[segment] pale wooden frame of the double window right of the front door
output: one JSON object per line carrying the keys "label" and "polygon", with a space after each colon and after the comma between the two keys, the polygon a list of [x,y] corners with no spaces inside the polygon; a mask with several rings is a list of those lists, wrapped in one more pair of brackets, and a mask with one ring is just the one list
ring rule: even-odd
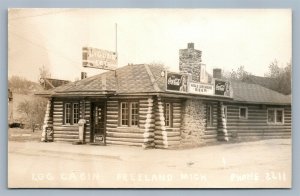
{"label": "pale wooden frame of the double window right of the front door", "polygon": [[[127,105],[127,108],[126,108],[126,113],[127,113],[127,122],[128,124],[123,124],[123,108],[122,108],[122,105],[123,103],[126,103]],[[133,113],[133,104],[137,104],[137,107],[135,108],[137,113]],[[121,127],[139,127],[139,108],[140,108],[140,104],[139,104],[139,101],[137,100],[130,100],[130,101],[120,101],[119,102],[119,126]],[[137,124],[133,124],[133,115],[137,116],[136,117],[136,122]]]}

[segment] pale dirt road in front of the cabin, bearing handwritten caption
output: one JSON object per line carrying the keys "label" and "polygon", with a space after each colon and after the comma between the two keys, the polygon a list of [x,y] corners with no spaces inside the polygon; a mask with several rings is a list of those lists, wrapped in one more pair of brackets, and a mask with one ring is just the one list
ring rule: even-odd
{"label": "pale dirt road in front of the cabin, bearing handwritten caption", "polygon": [[291,186],[289,139],[185,150],[9,141],[9,187]]}

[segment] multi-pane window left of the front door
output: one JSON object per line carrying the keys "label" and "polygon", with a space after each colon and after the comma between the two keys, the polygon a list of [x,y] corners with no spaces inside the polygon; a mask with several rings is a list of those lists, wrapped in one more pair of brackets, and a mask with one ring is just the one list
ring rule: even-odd
{"label": "multi-pane window left of the front door", "polygon": [[65,103],[64,123],[77,124],[79,121],[79,103]]}

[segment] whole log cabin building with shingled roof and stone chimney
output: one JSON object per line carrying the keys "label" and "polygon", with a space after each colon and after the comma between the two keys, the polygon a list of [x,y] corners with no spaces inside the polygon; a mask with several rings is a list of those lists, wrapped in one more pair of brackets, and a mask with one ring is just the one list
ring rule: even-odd
{"label": "whole log cabin building with shingled roof and stone chimney", "polygon": [[42,140],[180,148],[291,137],[289,96],[222,80],[221,69],[210,77],[201,56],[188,43],[179,73],[129,64],[40,93],[49,98]]}

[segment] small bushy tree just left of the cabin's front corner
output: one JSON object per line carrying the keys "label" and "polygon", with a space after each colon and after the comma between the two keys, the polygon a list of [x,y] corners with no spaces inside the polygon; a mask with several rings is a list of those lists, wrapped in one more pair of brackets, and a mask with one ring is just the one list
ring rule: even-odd
{"label": "small bushy tree just left of the cabin's front corner", "polygon": [[32,132],[35,131],[37,125],[43,124],[46,106],[47,100],[41,97],[24,100],[18,105],[18,111],[25,115],[24,121],[30,126]]}

